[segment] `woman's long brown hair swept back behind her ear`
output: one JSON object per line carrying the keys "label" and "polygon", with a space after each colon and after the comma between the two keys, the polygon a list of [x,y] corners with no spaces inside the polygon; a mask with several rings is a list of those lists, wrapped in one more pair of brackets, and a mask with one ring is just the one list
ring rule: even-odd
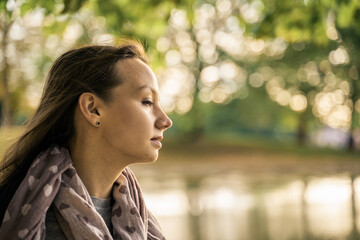
{"label": "woman's long brown hair swept back behind her ear", "polygon": [[38,109],[2,160],[0,219],[35,157],[52,144],[68,147],[74,134],[73,118],[79,96],[91,92],[109,102],[110,90],[121,84],[121,79],[115,77],[114,65],[127,58],[147,63],[142,45],[133,41],[120,46],[73,49],[54,62]]}

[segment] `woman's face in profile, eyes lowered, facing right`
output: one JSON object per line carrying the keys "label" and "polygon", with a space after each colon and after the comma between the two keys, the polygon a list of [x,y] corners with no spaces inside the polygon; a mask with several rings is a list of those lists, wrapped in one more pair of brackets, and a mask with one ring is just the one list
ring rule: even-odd
{"label": "woman's face in profile, eyes lowered, facing right", "polygon": [[155,74],[135,58],[118,62],[115,71],[122,83],[100,112],[101,142],[127,164],[153,162],[164,131],[172,125],[160,107]]}

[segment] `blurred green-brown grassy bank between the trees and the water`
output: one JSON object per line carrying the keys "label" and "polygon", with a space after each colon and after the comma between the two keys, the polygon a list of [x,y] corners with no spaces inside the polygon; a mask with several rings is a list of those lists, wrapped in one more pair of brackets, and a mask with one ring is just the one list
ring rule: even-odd
{"label": "blurred green-brown grassy bank between the trees and the water", "polygon": [[[0,155],[20,135],[21,127],[0,129]],[[298,147],[264,139],[213,136],[198,141],[164,142],[155,164],[139,171],[189,175],[236,171],[249,174],[360,174],[360,153]]]}

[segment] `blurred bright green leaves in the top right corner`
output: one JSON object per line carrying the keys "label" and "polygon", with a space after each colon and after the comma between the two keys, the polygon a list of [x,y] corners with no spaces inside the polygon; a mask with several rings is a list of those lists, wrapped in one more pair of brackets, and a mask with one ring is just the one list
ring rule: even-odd
{"label": "blurred bright green leaves in the top right corner", "polygon": [[283,37],[289,42],[307,41],[319,45],[329,42],[326,36],[326,18],[336,15],[337,28],[352,28],[360,32],[360,1],[273,1],[263,0],[264,20],[259,37]]}

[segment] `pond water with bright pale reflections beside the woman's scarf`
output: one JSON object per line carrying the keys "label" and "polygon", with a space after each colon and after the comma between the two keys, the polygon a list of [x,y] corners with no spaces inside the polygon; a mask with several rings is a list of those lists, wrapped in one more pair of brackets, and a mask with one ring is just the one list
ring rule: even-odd
{"label": "pond water with bright pale reflections beside the woman's scarf", "polygon": [[[140,176],[168,239],[358,239],[360,178]],[[144,183],[144,184],[143,184]]]}

